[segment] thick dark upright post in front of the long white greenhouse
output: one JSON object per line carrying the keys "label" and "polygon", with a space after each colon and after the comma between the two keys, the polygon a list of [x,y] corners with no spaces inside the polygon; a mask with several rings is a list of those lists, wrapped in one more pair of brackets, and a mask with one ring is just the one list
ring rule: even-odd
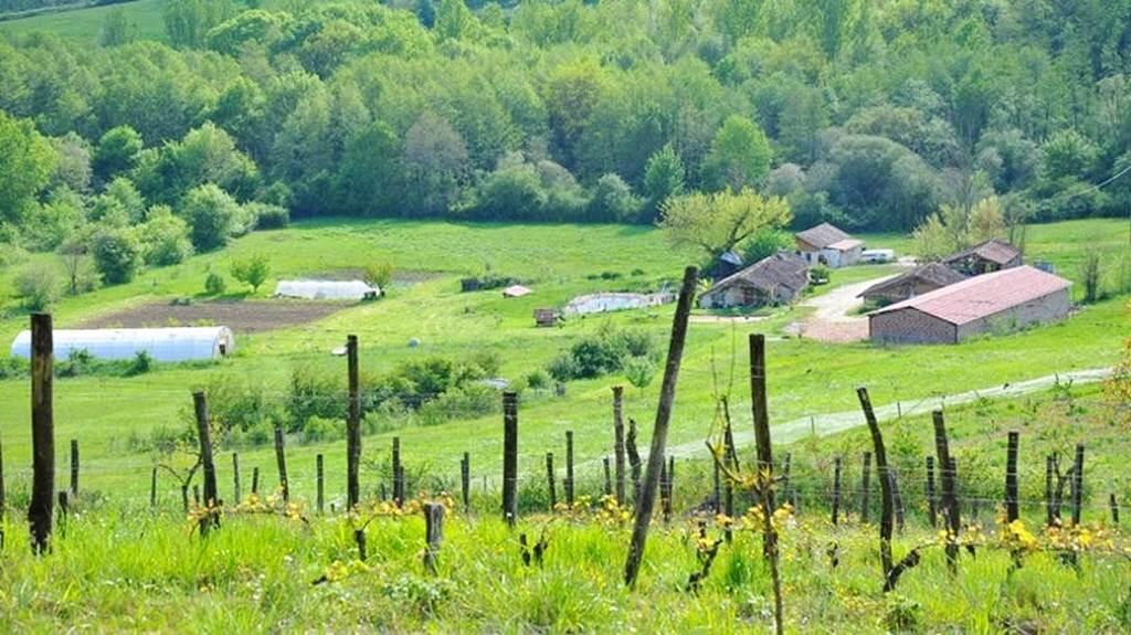
{"label": "thick dark upright post in front of the long white greenhouse", "polygon": [[32,315],[32,502],[27,522],[32,551],[51,547],[55,497],[54,342],[51,315]]}

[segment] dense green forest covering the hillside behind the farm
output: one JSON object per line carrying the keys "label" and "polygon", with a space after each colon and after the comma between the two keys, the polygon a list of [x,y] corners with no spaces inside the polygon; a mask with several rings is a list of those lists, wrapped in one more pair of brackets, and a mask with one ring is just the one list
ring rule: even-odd
{"label": "dense green forest covering the hillside behind the farm", "polygon": [[0,40],[0,242],[159,264],[287,214],[653,223],[751,189],[907,230],[1131,200],[1131,0],[169,0],[169,44],[124,7],[95,50]]}

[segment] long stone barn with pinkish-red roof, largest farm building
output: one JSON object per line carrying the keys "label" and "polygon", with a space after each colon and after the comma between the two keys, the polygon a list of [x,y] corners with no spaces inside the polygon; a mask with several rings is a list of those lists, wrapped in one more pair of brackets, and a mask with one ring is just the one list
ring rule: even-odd
{"label": "long stone barn with pinkish-red roof, largest farm building", "polygon": [[869,332],[879,342],[957,343],[1064,318],[1071,286],[1033,267],[984,273],[870,313]]}

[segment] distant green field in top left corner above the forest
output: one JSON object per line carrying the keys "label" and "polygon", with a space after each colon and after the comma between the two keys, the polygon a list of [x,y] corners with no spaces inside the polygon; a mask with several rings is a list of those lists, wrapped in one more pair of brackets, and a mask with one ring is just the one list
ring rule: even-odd
{"label": "distant green field in top left corner above the forest", "polygon": [[54,33],[68,40],[96,43],[106,14],[121,8],[135,28],[139,40],[165,40],[165,26],[161,19],[161,7],[165,0],[137,0],[121,5],[89,7],[66,11],[41,14],[27,18],[0,21],[0,34],[23,35],[27,33]]}

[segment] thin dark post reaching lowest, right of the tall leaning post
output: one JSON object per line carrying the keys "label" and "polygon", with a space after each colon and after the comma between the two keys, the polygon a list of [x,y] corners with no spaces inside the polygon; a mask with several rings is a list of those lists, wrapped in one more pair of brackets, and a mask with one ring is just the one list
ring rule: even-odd
{"label": "thin dark post reaching lowest, right of the tall leaning post", "polygon": [[774,586],[774,628],[777,635],[785,630],[785,606],[782,599],[782,572],[778,566],[778,533],[774,525],[774,447],[770,444],[770,412],[766,398],[766,336],[750,336],[750,409],[754,421],[754,445],[758,461],[757,482],[762,505],[762,554],[770,563]]}

